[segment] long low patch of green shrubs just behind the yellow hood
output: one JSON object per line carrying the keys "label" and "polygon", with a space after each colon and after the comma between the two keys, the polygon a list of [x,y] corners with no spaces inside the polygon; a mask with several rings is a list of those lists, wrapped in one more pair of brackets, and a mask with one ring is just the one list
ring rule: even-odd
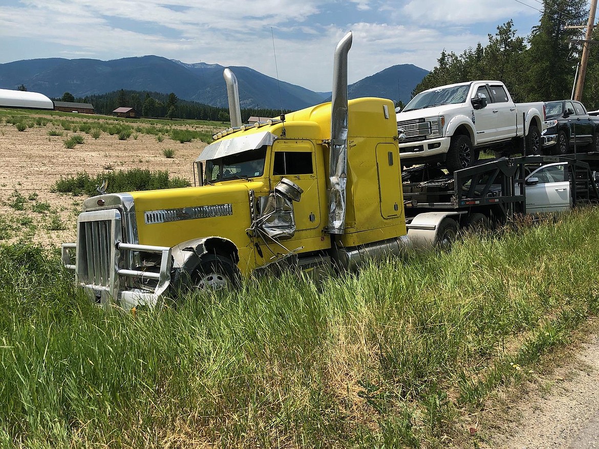
{"label": "long low patch of green shrubs just behind the yellow hood", "polygon": [[123,171],[118,170],[90,177],[86,172],[80,172],[75,177],[60,178],[53,190],[73,195],[97,195],[96,186],[102,181],[108,181],[107,192],[135,192],[137,190],[172,189],[174,187],[189,187],[189,181],[183,178],[170,178],[168,171],[150,171],[140,168]]}

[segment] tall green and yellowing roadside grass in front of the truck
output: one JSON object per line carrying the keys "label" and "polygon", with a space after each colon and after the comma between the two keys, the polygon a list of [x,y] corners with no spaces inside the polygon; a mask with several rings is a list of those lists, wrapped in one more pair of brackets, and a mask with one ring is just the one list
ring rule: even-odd
{"label": "tall green and yellowing roadside grass in front of the truck", "polygon": [[105,314],[0,247],[0,445],[447,447],[599,306],[599,211],[331,278]]}

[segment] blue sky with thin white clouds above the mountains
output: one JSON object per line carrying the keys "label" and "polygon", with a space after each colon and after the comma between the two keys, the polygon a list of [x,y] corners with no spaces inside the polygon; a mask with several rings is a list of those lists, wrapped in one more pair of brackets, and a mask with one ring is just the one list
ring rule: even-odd
{"label": "blue sky with thin white clouds above the mountains", "polygon": [[[541,0],[0,0],[0,63],[40,57],[156,54],[249,66],[331,90],[332,53],[353,31],[349,82],[389,66],[432,69],[441,50],[488,42],[513,19],[539,22]],[[273,50],[274,37],[274,50]],[[275,63],[276,53],[276,63]],[[0,86],[2,87],[2,86]]]}

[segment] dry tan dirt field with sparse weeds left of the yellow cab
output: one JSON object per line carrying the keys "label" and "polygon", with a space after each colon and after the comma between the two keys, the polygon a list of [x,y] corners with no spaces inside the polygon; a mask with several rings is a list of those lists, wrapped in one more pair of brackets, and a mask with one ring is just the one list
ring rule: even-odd
{"label": "dry tan dirt field with sparse weeds left of the yellow cab", "polygon": [[[30,117],[37,117],[31,114]],[[39,114],[40,117],[47,117]],[[65,117],[60,117],[65,120]],[[70,119],[81,123],[80,116]],[[106,118],[111,122],[110,117]],[[19,132],[15,125],[0,123],[0,241],[18,239],[39,242],[47,247],[58,247],[61,242],[74,241],[77,215],[84,196],[50,192],[60,177],[85,171],[90,175],[132,168],[168,170],[171,177],[181,177],[193,183],[192,162],[205,143],[194,139],[181,144],[168,135],[158,142],[155,135],[135,133],[126,140],[102,132],[98,139],[78,132],[84,144],[71,150],[63,142],[74,133],[53,125],[34,126]],[[116,123],[116,122],[115,122]],[[140,123],[134,126],[147,126]],[[184,125],[174,128],[185,128]],[[224,126],[223,126],[224,128]],[[50,136],[56,130],[62,136]],[[134,138],[137,137],[137,138]],[[167,159],[163,150],[174,150],[174,158]],[[37,194],[37,195],[36,195]],[[25,198],[24,210],[16,210],[16,199]],[[18,203],[18,201],[17,201]],[[47,209],[50,205],[50,210]],[[13,205],[13,207],[11,207]],[[18,206],[17,206],[18,208]],[[58,216],[58,218],[57,218]],[[63,230],[56,228],[65,227]]]}

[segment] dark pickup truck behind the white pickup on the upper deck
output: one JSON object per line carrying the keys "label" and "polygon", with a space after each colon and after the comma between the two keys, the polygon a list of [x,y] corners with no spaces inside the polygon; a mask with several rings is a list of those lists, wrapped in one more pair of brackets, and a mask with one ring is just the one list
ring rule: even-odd
{"label": "dark pickup truck behind the white pickup on the upper deck", "polygon": [[544,151],[550,154],[599,151],[599,117],[591,116],[579,101],[545,102]]}

